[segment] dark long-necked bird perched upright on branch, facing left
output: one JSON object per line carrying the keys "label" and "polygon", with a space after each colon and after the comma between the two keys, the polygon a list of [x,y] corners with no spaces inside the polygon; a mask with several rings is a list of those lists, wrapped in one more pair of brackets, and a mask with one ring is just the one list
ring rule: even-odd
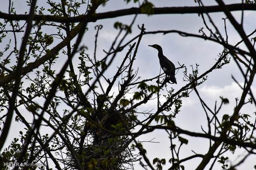
{"label": "dark long-necked bird perched upright on branch, facing left", "polygon": [[163,69],[164,73],[167,76],[169,76],[169,80],[177,84],[176,78],[175,78],[175,66],[170,60],[168,60],[168,58],[164,56],[162,47],[157,44],[149,45],[149,46],[156,48],[158,50],[158,58],[159,58],[161,68]]}

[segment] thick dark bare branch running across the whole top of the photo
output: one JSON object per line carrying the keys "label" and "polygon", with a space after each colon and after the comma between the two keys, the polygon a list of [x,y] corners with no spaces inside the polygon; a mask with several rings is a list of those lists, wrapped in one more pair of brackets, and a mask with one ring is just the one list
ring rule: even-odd
{"label": "thick dark bare branch running across the whole top of the photo", "polygon": [[[231,4],[225,6],[229,11],[241,11],[241,10],[255,10],[256,4]],[[154,14],[201,14],[201,13],[212,13],[212,12],[221,12],[223,11],[222,7],[215,6],[205,6],[205,7],[162,7],[154,8]],[[129,9],[120,9],[116,11],[109,11],[104,13],[98,13],[93,15],[80,15],[75,17],[66,17],[66,16],[51,16],[51,15],[35,15],[34,21],[52,21],[58,23],[76,23],[76,22],[95,22],[99,19],[106,18],[115,18],[119,16],[128,16],[133,14],[143,14],[140,8],[129,8]],[[28,15],[14,15],[6,14],[0,11],[0,18],[17,21],[17,20],[27,20]]]}

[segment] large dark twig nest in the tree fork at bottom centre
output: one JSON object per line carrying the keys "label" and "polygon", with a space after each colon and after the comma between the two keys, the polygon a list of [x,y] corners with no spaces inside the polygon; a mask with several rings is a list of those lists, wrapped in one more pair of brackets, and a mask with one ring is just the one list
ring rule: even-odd
{"label": "large dark twig nest in the tree fork at bottom centre", "polygon": [[[133,121],[126,114],[117,113],[114,110],[97,110],[96,116],[98,121],[104,122],[103,127],[110,131],[116,131],[112,125],[125,123],[125,127],[132,127]],[[104,121],[102,121],[104,119]],[[124,128],[126,129],[126,128]],[[122,132],[124,132],[123,130]],[[137,161],[137,156],[133,155],[129,145],[132,140],[126,136],[116,136],[102,129],[91,126],[90,130],[91,141],[83,146],[82,151],[77,147],[77,161],[83,165],[84,169],[99,169],[99,170],[128,170],[133,169],[133,162]],[[88,134],[89,134],[88,133]],[[71,156],[70,156],[71,158]],[[73,159],[69,161],[71,169],[76,168]]]}

